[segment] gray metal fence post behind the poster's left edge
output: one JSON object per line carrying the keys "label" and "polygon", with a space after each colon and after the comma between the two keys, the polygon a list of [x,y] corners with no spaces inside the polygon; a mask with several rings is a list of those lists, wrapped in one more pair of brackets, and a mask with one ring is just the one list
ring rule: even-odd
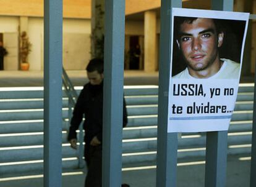
{"label": "gray metal fence post behind the poster's left edge", "polygon": [[171,8],[182,7],[181,0],[161,1],[160,66],[158,91],[158,143],[156,186],[176,186],[177,133],[167,133],[168,91],[171,59]]}

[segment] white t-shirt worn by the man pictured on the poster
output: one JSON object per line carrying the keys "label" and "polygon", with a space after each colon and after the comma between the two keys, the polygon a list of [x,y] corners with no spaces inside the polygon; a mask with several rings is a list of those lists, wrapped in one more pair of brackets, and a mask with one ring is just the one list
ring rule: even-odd
{"label": "white t-shirt worn by the man pictured on the poster", "polygon": [[[221,60],[223,60],[224,62],[220,70],[208,79],[238,79],[240,64],[225,58],[221,58]],[[196,79],[190,76],[189,70],[187,68],[181,71],[181,73],[176,74],[176,76],[173,76],[173,78],[174,79]]]}

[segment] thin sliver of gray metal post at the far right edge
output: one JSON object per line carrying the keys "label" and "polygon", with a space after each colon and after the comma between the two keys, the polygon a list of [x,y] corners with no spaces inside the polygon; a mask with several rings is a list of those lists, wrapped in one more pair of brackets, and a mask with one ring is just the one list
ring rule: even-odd
{"label": "thin sliver of gray metal post at the far right edge", "polygon": [[[256,82],[256,75],[254,84]],[[256,86],[254,86],[254,103],[256,102]],[[254,104],[254,117],[252,122],[252,153],[250,161],[250,187],[256,186],[256,105]]]}

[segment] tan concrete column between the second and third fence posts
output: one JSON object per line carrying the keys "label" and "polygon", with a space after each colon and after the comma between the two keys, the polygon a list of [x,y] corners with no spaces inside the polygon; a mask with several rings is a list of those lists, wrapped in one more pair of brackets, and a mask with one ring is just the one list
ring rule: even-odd
{"label": "tan concrete column between the second and third fence posts", "polygon": [[144,70],[154,72],[156,70],[156,12],[149,10],[144,14]]}

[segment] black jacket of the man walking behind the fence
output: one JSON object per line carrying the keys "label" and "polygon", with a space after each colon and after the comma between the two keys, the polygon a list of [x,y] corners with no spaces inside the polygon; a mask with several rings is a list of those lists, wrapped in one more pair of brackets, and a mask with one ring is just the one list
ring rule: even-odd
{"label": "black jacket of the man walking behind the fence", "polygon": [[[79,128],[80,122],[85,117],[83,129],[85,129],[85,144],[90,145],[93,137],[97,136],[102,142],[103,133],[103,83],[92,86],[87,83],[80,92],[75,104],[73,117],[70,122],[68,140],[77,138],[75,130]],[[126,102],[123,108],[123,127],[127,124]]]}

